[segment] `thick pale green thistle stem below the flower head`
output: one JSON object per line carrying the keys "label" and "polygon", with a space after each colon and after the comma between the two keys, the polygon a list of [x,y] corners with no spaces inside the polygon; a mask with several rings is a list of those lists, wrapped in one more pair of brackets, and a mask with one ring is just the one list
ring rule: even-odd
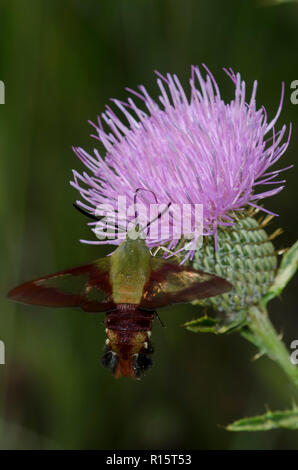
{"label": "thick pale green thistle stem below the flower head", "polygon": [[242,336],[255,344],[261,354],[266,354],[277,362],[298,388],[298,366],[291,363],[289,351],[272,325],[267,309],[261,306],[251,306],[248,310],[247,326],[248,330],[243,330]]}

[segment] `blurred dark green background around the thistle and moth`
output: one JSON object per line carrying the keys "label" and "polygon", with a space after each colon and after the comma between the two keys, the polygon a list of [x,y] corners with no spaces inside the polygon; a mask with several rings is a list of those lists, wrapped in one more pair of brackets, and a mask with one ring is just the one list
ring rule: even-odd
{"label": "blurred dark green background around the thistle and moth", "polygon": [[[92,150],[88,119],[110,97],[143,83],[157,95],[154,69],[187,86],[190,64],[205,62],[226,99],[223,66],[240,71],[272,117],[286,94],[280,127],[291,145],[276,168],[295,163],[298,106],[298,4],[261,7],[248,0],[1,0],[0,106],[1,309],[0,448],[7,449],[298,449],[297,433],[232,434],[223,425],[288,408],[294,391],[268,359],[237,335],[184,331],[198,316],[182,305],[160,311],[153,327],[155,366],[140,382],[116,381],[100,366],[103,315],[20,306],[5,299],[17,283],[108,253],[86,246],[86,220],[72,208],[72,145]],[[297,170],[266,202],[284,228],[279,248],[297,235]],[[289,346],[298,337],[297,288],[270,304]]]}

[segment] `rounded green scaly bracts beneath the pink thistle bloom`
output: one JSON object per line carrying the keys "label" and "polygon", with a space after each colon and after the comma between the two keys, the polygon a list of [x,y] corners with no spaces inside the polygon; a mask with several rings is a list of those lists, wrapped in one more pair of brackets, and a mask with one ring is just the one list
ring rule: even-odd
{"label": "rounded green scaly bracts beneath the pink thistle bloom", "polygon": [[266,219],[261,222],[250,215],[238,216],[234,226],[218,230],[217,251],[214,239],[206,237],[195,254],[193,267],[224,277],[234,289],[193,304],[217,312],[236,313],[261,301],[274,281],[277,268],[271,237],[263,229]]}

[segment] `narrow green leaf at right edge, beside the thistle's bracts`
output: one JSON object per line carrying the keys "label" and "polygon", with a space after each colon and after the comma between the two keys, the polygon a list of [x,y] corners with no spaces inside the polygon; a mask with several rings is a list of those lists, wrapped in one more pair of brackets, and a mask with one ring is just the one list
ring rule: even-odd
{"label": "narrow green leaf at right edge, beside the thistle's bracts", "polygon": [[266,296],[262,300],[262,304],[266,305],[269,300],[280,295],[288,282],[294,276],[298,268],[298,240],[284,254],[280,263],[277,275],[272,286],[269,288]]}

